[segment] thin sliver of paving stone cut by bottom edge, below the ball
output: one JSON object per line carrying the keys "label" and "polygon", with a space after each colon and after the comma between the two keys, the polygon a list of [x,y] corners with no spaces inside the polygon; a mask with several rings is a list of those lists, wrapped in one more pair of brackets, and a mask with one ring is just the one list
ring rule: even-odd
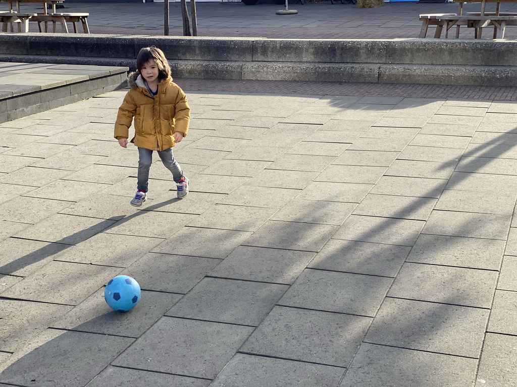
{"label": "thin sliver of paving stone cut by bottom edge, below the ball", "polygon": [[141,369],[112,367],[104,369],[98,376],[87,384],[88,387],[117,387],[121,384],[133,387],[170,387],[181,385],[185,387],[207,387],[211,380],[188,378],[178,375],[148,372]]}

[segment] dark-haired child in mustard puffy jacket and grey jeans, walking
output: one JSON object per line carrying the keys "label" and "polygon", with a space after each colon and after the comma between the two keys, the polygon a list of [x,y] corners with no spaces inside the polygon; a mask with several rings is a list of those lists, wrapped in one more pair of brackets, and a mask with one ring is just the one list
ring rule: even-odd
{"label": "dark-haired child in mustard puffy jacket and grey jeans, walking", "polygon": [[115,138],[127,148],[129,126],[134,117],[135,135],[131,142],[138,147],[138,183],[130,204],[140,207],[147,196],[149,168],[153,151],[172,172],[178,187],[178,199],[189,193],[189,179],[174,159],[172,147],[187,135],[190,108],[183,90],[172,82],[171,67],[160,49],[154,46],[140,50],[135,71],[128,76],[131,87],[118,108]]}

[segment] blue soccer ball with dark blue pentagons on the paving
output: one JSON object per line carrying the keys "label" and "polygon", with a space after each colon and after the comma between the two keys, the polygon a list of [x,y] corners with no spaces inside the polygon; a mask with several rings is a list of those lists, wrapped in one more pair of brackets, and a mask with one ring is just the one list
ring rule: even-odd
{"label": "blue soccer ball with dark blue pentagons on the paving", "polygon": [[140,301],[140,285],[129,276],[112,278],[104,290],[104,299],[111,309],[127,312]]}

